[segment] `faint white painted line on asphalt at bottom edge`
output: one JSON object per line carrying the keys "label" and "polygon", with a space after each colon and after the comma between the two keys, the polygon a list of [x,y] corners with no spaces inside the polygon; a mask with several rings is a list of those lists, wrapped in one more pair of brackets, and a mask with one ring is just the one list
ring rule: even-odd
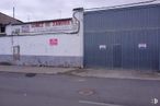
{"label": "faint white painted line on asphalt at bottom edge", "polygon": [[98,102],[90,102],[90,101],[79,101],[79,103],[80,104],[99,105],[99,106],[123,106],[123,105],[114,105],[114,104],[98,103]]}

